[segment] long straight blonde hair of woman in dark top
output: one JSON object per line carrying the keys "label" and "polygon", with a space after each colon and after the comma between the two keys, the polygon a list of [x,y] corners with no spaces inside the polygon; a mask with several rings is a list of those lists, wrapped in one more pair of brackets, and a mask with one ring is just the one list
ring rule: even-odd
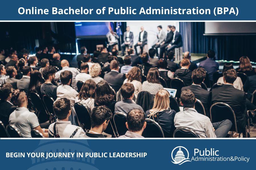
{"label": "long straight blonde hair of woman in dark top", "polygon": [[154,106],[152,109],[149,110],[148,117],[150,118],[151,116],[154,119],[154,115],[157,114],[157,112],[164,111],[164,110],[170,110],[170,99],[169,99],[169,92],[167,90],[159,90],[156,93],[156,96],[154,98]]}

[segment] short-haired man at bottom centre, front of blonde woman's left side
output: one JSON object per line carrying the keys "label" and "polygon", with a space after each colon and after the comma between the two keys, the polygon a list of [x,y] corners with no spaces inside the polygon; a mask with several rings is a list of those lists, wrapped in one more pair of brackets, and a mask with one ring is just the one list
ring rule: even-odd
{"label": "short-haired man at bottom centre, front of blonde woman's left side", "polygon": [[131,110],[126,117],[126,128],[128,131],[119,138],[144,138],[142,133],[146,128],[145,114],[140,109]]}

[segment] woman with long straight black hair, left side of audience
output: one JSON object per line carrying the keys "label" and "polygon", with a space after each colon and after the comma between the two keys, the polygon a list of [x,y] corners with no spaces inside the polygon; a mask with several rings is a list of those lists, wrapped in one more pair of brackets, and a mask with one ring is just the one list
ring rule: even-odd
{"label": "woman with long straight black hair, left side of audience", "polygon": [[30,83],[28,86],[29,92],[34,92],[42,97],[41,85],[44,83],[42,74],[38,70],[34,70],[30,73]]}

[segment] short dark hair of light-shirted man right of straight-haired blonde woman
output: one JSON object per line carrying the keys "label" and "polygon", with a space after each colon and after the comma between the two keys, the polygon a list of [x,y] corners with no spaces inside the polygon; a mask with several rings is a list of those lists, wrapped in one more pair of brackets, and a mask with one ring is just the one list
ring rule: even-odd
{"label": "short dark hair of light-shirted man right of straight-haired blonde woman", "polygon": [[195,94],[189,89],[183,90],[181,92],[180,100],[181,103],[183,104],[183,108],[193,108],[195,106]]}

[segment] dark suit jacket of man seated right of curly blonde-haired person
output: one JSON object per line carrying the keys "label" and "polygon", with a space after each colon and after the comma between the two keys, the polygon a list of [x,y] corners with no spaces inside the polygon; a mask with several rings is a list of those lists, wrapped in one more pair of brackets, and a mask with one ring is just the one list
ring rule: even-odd
{"label": "dark suit jacket of man seated right of curly blonde-haired person", "polygon": [[110,71],[104,75],[104,80],[117,92],[123,85],[123,81],[126,79],[125,74],[118,73],[116,71]]}

